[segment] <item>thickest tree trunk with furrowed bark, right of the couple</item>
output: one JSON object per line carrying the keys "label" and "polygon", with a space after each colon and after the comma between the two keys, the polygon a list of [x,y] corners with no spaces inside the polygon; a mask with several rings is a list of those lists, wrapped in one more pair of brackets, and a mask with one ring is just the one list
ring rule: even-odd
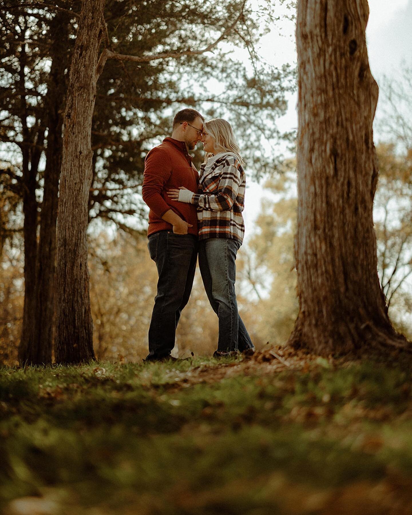
{"label": "thickest tree trunk with furrowed bark, right of the couple", "polygon": [[289,342],[313,352],[404,347],[377,276],[372,207],[378,88],[367,0],[298,0],[299,315]]}

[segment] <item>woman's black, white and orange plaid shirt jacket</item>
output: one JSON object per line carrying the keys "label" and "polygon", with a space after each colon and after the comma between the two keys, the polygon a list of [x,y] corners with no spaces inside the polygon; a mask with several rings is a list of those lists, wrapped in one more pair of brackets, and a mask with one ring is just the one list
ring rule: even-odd
{"label": "woman's black, white and orange plaid shirt jacket", "polygon": [[242,244],[246,174],[237,156],[221,152],[200,167],[197,207],[199,239],[232,238]]}

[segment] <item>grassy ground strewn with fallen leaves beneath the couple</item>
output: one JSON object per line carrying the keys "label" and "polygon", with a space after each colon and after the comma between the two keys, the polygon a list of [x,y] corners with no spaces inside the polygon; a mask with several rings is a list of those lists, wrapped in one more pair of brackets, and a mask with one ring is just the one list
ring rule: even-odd
{"label": "grassy ground strewn with fallen leaves beneath the couple", "polygon": [[412,513],[411,362],[0,370],[5,515]]}

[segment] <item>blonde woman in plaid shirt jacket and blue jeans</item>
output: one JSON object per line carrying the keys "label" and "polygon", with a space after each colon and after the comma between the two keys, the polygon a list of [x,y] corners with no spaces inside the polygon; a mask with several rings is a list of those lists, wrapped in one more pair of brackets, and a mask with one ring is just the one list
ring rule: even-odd
{"label": "blonde woman in plaid shirt jacket and blue jeans", "polygon": [[213,311],[219,318],[219,339],[214,357],[230,356],[254,346],[237,311],[236,253],[245,234],[246,176],[231,125],[216,118],[203,124],[199,193],[184,187],[168,196],[197,207],[199,268]]}

